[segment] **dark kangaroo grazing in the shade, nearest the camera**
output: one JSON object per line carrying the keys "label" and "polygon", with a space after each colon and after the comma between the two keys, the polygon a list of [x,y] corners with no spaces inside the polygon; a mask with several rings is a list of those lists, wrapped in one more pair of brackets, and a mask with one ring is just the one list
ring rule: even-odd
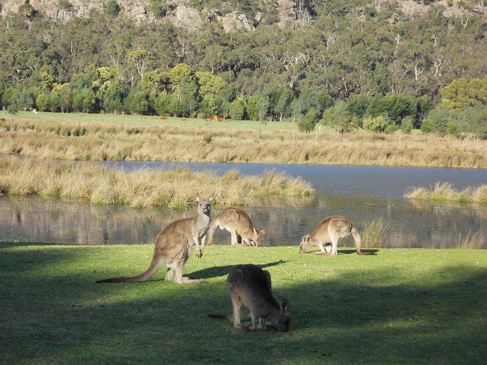
{"label": "dark kangaroo grazing in the shade, nearest the camera", "polygon": [[[257,265],[237,265],[226,279],[226,290],[232,298],[233,314],[208,314],[211,318],[221,318],[233,322],[238,329],[249,330],[240,323],[242,304],[250,309],[252,330],[256,330],[256,319],[259,317],[259,327],[267,330],[266,319],[270,317],[280,331],[287,332],[291,323],[289,302],[282,299],[281,303],[272,295],[271,274]],[[271,329],[276,329],[270,326]]]}

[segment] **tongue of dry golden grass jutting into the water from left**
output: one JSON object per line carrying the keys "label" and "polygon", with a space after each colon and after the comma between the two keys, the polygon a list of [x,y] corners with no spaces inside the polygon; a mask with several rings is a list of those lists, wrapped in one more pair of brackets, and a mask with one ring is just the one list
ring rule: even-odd
{"label": "tongue of dry golden grass jutting into the water from left", "polygon": [[0,159],[0,195],[185,209],[196,204],[198,192],[205,197],[214,193],[217,204],[249,205],[259,195],[302,196],[314,191],[300,178],[273,171],[243,176],[230,170],[220,176],[188,167],[125,171],[91,163]]}

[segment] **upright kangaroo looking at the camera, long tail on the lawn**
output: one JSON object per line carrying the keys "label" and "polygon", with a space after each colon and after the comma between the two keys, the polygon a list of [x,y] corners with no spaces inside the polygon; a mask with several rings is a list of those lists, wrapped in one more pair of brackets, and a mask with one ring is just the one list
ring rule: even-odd
{"label": "upright kangaroo looking at the camera, long tail on the lawn", "polygon": [[[169,223],[157,235],[154,244],[154,256],[149,269],[145,273],[133,277],[113,277],[99,280],[97,283],[113,282],[140,282],[146,281],[155,274],[163,265],[168,267],[166,281],[174,281],[177,284],[206,284],[203,280],[189,279],[183,276],[183,267],[196,244],[196,256],[203,256],[206,231],[210,223],[210,201],[196,194],[198,201],[198,215],[192,218],[178,219]],[[201,247],[200,247],[201,239]],[[174,276],[174,272],[176,275]]]}

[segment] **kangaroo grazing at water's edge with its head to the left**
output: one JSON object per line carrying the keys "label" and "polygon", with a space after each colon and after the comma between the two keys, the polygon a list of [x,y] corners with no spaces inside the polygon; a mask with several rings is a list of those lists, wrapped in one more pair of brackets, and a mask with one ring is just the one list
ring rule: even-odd
{"label": "kangaroo grazing at water's edge with its head to the left", "polygon": [[[340,237],[352,235],[355,240],[356,251],[358,255],[375,255],[371,252],[361,252],[360,245],[362,239],[352,222],[342,216],[331,216],[321,221],[316,226],[311,235],[306,234],[302,237],[300,243],[300,254],[303,254],[313,246],[319,247],[318,255],[337,256],[337,244]],[[326,246],[326,251],[323,249]]]}

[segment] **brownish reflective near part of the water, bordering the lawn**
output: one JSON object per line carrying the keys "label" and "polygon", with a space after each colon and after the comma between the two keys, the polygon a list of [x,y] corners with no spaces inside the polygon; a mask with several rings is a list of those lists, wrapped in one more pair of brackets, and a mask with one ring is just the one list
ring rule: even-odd
{"label": "brownish reflective near part of the water, bordering the lawn", "polygon": [[[247,210],[258,229],[269,227],[265,235],[269,245],[296,245],[320,219],[336,214],[350,218],[359,228],[364,219],[383,216],[391,226],[388,247],[453,247],[459,234],[487,234],[487,208],[458,203],[317,194],[304,199],[261,198]],[[214,208],[213,215],[218,211]],[[153,243],[164,225],[193,214],[3,197],[0,240],[89,245]],[[226,232],[217,231],[216,243],[229,241]]]}

